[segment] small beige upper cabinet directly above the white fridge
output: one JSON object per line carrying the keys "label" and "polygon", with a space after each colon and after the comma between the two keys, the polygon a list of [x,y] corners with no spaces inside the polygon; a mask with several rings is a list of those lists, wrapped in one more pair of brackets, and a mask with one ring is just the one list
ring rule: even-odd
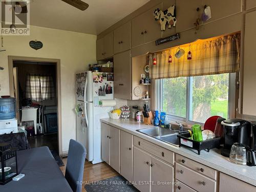
{"label": "small beige upper cabinet directly above the white fridge", "polygon": [[103,38],[97,39],[97,60],[113,56],[113,32],[106,34]]}

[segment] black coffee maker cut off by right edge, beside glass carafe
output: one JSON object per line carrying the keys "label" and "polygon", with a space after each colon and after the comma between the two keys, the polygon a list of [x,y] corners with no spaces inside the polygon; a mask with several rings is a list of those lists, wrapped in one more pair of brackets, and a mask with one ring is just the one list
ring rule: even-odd
{"label": "black coffee maker cut off by right edge, beside glass carafe", "polygon": [[247,165],[256,166],[256,122],[251,123],[250,146],[246,149]]}

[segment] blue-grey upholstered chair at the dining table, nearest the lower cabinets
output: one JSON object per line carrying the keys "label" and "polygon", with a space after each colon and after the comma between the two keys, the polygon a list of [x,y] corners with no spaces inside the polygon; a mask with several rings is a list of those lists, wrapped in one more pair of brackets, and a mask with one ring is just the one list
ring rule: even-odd
{"label": "blue-grey upholstered chair at the dining table, nearest the lower cabinets", "polygon": [[86,160],[86,148],[79,142],[71,139],[66,166],[65,178],[75,192],[82,190],[83,168]]}

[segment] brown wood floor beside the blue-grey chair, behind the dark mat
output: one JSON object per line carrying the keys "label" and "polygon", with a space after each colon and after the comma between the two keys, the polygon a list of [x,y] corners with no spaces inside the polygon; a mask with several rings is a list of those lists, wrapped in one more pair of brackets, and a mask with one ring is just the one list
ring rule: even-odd
{"label": "brown wood floor beside the blue-grey chair, behind the dark mat", "polygon": [[[65,164],[65,166],[62,166],[59,168],[61,169],[63,175],[65,175],[67,158],[63,158],[62,161]],[[105,162],[92,164],[86,161],[86,164],[84,165],[84,170],[83,170],[83,181],[84,182],[100,181],[100,180],[114,177],[117,175],[119,174]],[[82,191],[86,191],[86,189],[84,189],[84,185],[82,186]]]}

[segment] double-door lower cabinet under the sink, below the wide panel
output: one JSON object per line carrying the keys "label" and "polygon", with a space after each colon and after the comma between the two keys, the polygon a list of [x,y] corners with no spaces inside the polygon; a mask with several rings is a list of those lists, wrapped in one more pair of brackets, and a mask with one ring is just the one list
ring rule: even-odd
{"label": "double-door lower cabinet under the sink, below the wide panel", "polygon": [[174,190],[173,166],[134,147],[134,182],[140,191]]}

